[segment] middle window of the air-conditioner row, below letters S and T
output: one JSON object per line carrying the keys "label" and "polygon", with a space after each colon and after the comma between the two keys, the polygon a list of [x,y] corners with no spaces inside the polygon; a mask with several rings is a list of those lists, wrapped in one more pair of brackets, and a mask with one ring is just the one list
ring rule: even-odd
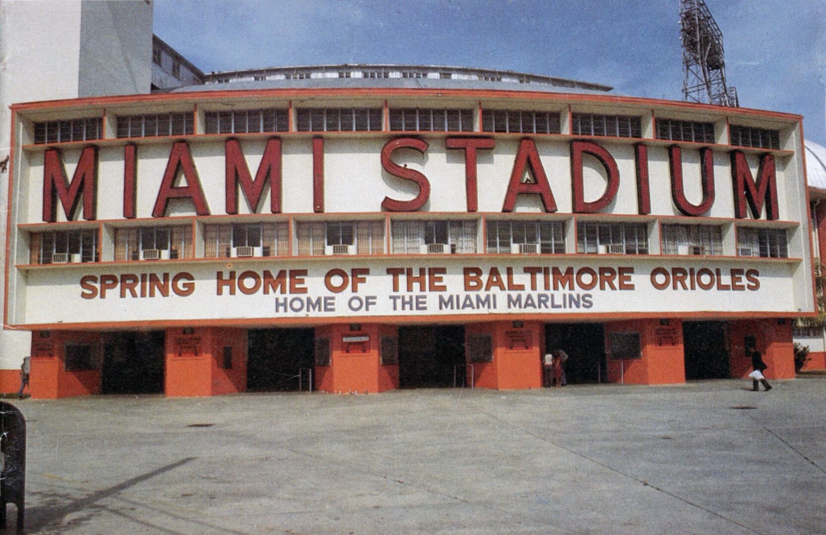
{"label": "middle window of the air-conditioner row, below letters S and T", "polygon": [[392,221],[396,254],[476,253],[477,224],[472,221]]}

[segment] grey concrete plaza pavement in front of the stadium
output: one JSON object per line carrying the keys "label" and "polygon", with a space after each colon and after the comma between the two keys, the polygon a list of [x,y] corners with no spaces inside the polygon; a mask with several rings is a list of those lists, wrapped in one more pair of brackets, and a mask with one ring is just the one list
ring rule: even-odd
{"label": "grey concrete plaza pavement in front of the stadium", "polygon": [[826,533],[826,377],[747,388],[14,401],[26,533]]}

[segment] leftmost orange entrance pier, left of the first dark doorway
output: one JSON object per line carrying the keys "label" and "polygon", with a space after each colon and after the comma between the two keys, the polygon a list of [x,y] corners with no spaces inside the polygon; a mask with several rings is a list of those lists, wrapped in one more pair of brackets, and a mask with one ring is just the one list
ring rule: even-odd
{"label": "leftmost orange entrance pier, left of the first dark doorway", "polygon": [[32,333],[29,376],[31,397],[56,399],[98,394],[101,389],[101,364],[100,333]]}

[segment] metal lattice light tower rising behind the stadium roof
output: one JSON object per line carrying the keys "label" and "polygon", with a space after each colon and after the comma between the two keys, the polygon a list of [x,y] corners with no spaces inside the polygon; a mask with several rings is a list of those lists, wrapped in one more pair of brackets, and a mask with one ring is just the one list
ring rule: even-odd
{"label": "metal lattice light tower rising behind the stadium roof", "polygon": [[723,32],[703,0],[680,0],[682,98],[718,106],[739,106],[737,89],[726,86]]}

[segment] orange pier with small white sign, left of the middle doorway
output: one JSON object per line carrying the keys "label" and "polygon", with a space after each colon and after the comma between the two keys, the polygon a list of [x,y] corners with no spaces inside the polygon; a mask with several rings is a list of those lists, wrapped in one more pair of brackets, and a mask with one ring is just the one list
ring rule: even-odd
{"label": "orange pier with small white sign, left of the middle doorway", "polygon": [[[382,343],[387,362],[382,363]],[[389,346],[387,344],[390,344]],[[392,351],[395,348],[395,351]],[[315,388],[347,394],[398,388],[395,325],[335,324],[316,327]]]}

